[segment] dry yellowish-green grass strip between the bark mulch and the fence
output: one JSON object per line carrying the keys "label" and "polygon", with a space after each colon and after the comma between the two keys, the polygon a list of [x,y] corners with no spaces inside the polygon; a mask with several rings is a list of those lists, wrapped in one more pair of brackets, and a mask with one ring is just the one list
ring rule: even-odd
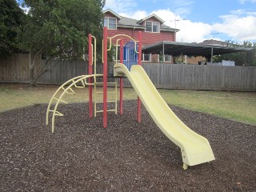
{"label": "dry yellowish-green grass strip between the bark mulch and the fence", "polygon": [[[0,84],[0,112],[48,103],[58,86],[29,87],[19,84]],[[76,89],[75,95],[65,95],[66,102],[88,102],[88,91]],[[171,105],[214,114],[238,122],[256,125],[256,93],[198,90],[159,90]],[[110,96],[112,97],[112,96]],[[124,99],[136,99],[133,89],[124,90]]]}

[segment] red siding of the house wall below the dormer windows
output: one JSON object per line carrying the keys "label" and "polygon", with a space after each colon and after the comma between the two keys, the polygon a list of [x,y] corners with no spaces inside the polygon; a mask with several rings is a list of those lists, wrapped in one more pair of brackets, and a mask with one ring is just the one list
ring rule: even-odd
{"label": "red siding of the house wall below the dormer windows", "polygon": [[[131,38],[134,38],[135,40],[138,41],[138,31],[142,31],[142,46],[154,44],[157,42],[162,42],[162,41],[169,41],[169,42],[174,42],[174,33],[169,32],[169,31],[160,31],[160,33],[150,33],[150,32],[145,32],[145,30],[142,29],[131,29],[131,28],[118,28],[118,30],[108,30],[107,31],[107,36],[113,37],[116,34],[126,34],[130,36]],[[118,38],[114,38],[112,43],[116,43],[116,40]],[[124,43],[129,42],[129,38],[124,38]]]}

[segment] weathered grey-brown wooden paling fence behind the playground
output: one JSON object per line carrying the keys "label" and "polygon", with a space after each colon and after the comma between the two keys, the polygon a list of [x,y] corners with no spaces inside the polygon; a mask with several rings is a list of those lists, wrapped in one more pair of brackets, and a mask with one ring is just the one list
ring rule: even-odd
{"label": "weathered grey-brown wooden paling fence behind the playground", "polygon": [[[40,70],[44,61],[38,61],[35,70]],[[143,63],[154,86],[164,89],[190,90],[239,90],[256,91],[255,66],[198,66],[182,64]],[[38,83],[62,84],[70,78],[88,74],[88,63],[82,61],[53,61],[50,71],[43,74]],[[97,66],[102,74],[102,63]],[[113,74],[113,63],[108,67]],[[114,78],[109,79],[110,82]],[[29,64],[26,54],[16,54],[11,58],[0,58],[0,82],[29,82]],[[124,78],[124,86],[130,82]]]}

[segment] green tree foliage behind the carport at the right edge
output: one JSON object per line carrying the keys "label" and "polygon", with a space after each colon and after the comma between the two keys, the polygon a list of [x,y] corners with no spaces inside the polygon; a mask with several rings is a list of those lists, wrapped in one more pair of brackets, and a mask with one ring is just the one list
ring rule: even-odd
{"label": "green tree foliage behind the carport at the right edge", "polygon": [[214,62],[222,62],[222,60],[234,61],[236,66],[256,66],[256,42],[243,42],[242,45],[227,41],[229,46],[253,48],[251,51],[239,52],[234,54],[222,54],[214,56]]}

